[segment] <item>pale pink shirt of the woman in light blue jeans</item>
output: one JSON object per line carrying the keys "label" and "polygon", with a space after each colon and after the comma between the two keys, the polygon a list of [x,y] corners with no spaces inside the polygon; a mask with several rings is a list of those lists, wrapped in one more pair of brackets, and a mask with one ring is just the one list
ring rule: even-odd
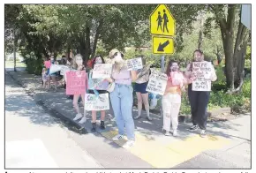
{"label": "pale pink shirt of the woman in light blue jeans", "polygon": [[127,70],[121,70],[120,72],[113,70],[112,78],[117,84],[132,85],[131,72]]}

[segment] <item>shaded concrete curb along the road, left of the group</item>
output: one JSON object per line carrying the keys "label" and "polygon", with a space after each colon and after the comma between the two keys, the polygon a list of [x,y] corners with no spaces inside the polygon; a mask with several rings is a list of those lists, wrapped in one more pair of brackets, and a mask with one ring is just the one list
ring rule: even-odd
{"label": "shaded concrete curb along the road, left of the group", "polygon": [[34,92],[34,89],[31,88],[28,90],[22,81],[20,81],[19,79],[16,79],[9,71],[5,71],[5,72],[11,77],[11,79],[16,81],[19,87],[23,87],[26,91],[26,94],[31,96],[38,105],[40,105],[44,109],[47,109],[51,113],[51,115],[53,115],[54,117],[59,118],[64,124],[68,126],[68,128],[75,127],[79,130],[79,133],[88,133],[87,129],[83,125],[73,121],[69,117],[65,117],[60,111],[57,111],[55,107],[51,107],[50,105],[47,105],[41,99],[36,99],[35,98],[36,93]]}

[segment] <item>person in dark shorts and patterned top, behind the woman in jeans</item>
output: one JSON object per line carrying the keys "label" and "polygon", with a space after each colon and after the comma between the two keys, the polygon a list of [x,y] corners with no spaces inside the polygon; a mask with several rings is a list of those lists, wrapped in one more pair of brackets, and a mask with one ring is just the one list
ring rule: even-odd
{"label": "person in dark shorts and patterned top, behind the woman in jeans", "polygon": [[148,93],[146,91],[147,89],[147,83],[149,80],[149,73],[150,73],[150,64],[146,65],[146,59],[142,58],[142,64],[145,65],[143,69],[139,69],[137,71],[138,73],[138,79],[136,80],[134,90],[137,95],[138,99],[138,116],[134,117],[134,119],[139,119],[141,115],[142,110],[142,102],[144,102],[144,106],[147,112],[147,119],[149,121],[152,121],[152,117],[149,116],[149,103],[148,103]]}

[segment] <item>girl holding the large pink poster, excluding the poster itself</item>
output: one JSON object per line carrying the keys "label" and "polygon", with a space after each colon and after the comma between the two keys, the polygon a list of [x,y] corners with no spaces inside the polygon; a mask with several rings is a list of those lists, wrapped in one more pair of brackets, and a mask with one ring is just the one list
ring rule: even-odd
{"label": "girl holding the large pink poster, excluding the poster itself", "polygon": [[[73,59],[73,69],[78,70],[78,71],[86,71],[85,66],[83,65],[83,58],[81,55],[76,55]],[[67,79],[68,80],[68,79]],[[87,83],[87,79],[86,79],[86,83]],[[87,87],[85,88],[85,90],[87,90]],[[85,105],[85,94],[74,94],[73,96],[73,106],[74,109],[77,112],[76,117],[74,117],[74,121],[79,120],[81,118],[81,120],[79,121],[79,124],[84,124],[87,122],[87,111],[84,110],[84,116],[82,116],[82,114],[79,111],[79,97],[82,97],[82,102],[83,105]]]}

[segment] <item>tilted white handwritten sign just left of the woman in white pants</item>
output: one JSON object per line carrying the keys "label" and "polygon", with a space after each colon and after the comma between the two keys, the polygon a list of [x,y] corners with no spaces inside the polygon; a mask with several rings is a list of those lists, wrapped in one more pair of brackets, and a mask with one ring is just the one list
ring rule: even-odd
{"label": "tilted white handwritten sign just left of the woman in white pants", "polygon": [[151,71],[147,84],[147,92],[163,95],[167,85],[167,75],[160,71]]}

